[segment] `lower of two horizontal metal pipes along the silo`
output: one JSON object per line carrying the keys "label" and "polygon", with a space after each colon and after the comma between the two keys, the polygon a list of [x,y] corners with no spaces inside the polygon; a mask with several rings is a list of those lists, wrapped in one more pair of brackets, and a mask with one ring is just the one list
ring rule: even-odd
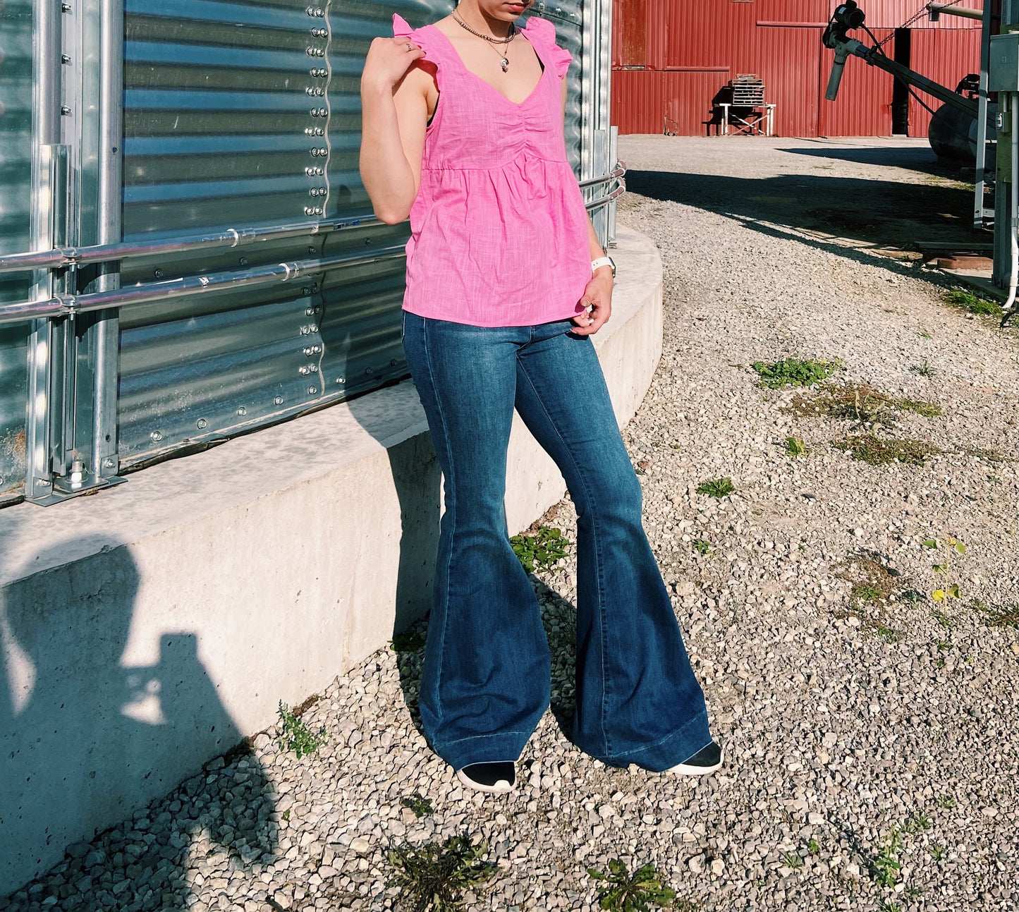
{"label": "lower of two horizontal metal pipes along the silo", "polygon": [[278,263],[275,266],[259,266],[253,269],[193,275],[161,282],[146,282],[145,284],[129,285],[126,288],[94,291],[89,294],[57,294],[49,301],[43,302],[5,304],[0,305],[0,325],[19,323],[33,317],[72,316],[106,308],[131,307],[138,304],[170,301],[208,291],[229,291],[252,285],[288,282],[328,269],[395,260],[404,256],[404,245],[400,244],[367,256],[358,254],[357,256],[324,257],[317,260],[297,260],[290,263]]}

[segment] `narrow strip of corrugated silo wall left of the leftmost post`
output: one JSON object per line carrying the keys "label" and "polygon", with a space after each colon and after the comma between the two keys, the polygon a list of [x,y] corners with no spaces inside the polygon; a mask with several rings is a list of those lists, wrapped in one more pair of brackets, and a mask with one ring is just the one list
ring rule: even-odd
{"label": "narrow strip of corrugated silo wall left of the leftmost post", "polygon": [[[32,201],[32,3],[0,3],[0,253],[28,250]],[[0,275],[0,302],[24,301],[31,276]],[[24,483],[25,325],[0,326],[0,504]]]}

